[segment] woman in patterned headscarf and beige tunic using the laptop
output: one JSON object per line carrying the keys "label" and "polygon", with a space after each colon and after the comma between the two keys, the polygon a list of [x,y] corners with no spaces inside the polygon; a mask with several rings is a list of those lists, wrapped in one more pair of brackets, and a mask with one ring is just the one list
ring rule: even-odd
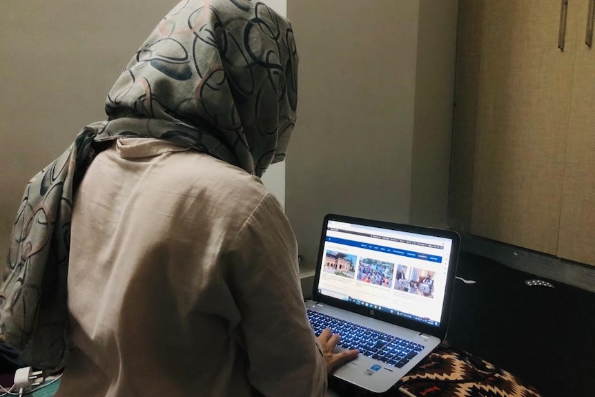
{"label": "woman in patterned headscarf and beige tunic using the laptop", "polygon": [[317,339],[295,237],[260,176],[284,159],[298,55],[263,3],[184,0],[14,224],[1,336],[57,396],[309,396],[357,351]]}

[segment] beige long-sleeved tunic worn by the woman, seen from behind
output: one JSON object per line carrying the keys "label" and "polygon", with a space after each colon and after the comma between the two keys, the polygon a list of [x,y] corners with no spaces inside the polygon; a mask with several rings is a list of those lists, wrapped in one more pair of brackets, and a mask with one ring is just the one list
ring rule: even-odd
{"label": "beige long-sleeved tunic worn by the woman, seen from behind", "polygon": [[319,396],[297,246],[280,204],[240,168],[119,139],[75,197],[72,342],[58,397]]}

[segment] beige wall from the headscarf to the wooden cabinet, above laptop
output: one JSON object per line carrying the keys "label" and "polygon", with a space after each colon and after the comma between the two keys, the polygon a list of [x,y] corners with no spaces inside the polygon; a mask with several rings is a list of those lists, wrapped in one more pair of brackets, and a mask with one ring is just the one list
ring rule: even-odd
{"label": "beige wall from the headscarf to the wooden cabinet, above laptop", "polygon": [[322,217],[447,225],[456,0],[289,0],[300,54],[286,213],[304,268]]}

